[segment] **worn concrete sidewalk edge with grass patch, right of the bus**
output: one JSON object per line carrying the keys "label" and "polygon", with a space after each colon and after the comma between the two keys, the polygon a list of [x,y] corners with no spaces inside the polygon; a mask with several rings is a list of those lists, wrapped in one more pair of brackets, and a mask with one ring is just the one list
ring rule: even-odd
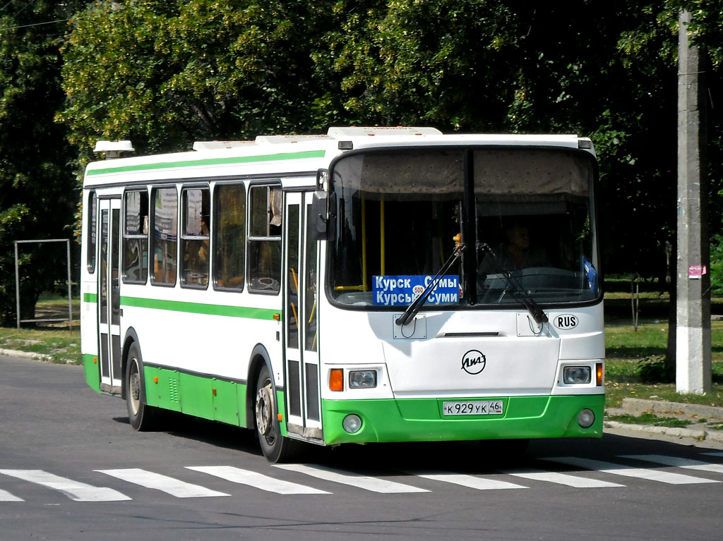
{"label": "worn concrete sidewalk edge with grass patch, right of the bus", "polygon": [[[702,404],[683,404],[664,402],[663,400],[644,400],[638,398],[623,399],[622,407],[609,408],[606,415],[641,415],[653,413],[659,417],[675,417],[693,421],[686,428],[672,428],[654,425],[633,425],[605,420],[604,427],[613,430],[625,430],[648,433],[672,438],[690,438],[693,441],[716,441],[723,444],[723,430],[711,430],[709,425],[723,424],[723,407],[704,406]],[[704,423],[701,423],[704,420]]]}

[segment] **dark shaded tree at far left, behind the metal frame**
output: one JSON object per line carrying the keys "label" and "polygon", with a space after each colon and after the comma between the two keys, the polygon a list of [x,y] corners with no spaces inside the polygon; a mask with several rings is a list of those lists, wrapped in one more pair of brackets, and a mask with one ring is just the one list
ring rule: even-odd
{"label": "dark shaded tree at far left, behind the metal frame", "polygon": [[[54,124],[64,101],[57,40],[78,2],[4,3],[0,8],[0,319],[15,319],[16,240],[67,238],[77,202],[67,129]],[[27,246],[27,245],[26,245]],[[64,266],[47,251],[24,248],[20,265],[22,319],[38,294],[64,282]]]}

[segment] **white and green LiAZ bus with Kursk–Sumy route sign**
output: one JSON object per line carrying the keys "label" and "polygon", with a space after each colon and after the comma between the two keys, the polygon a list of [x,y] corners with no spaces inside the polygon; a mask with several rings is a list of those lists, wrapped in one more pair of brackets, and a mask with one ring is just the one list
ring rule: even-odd
{"label": "white and green LiAZ bus with Kursk\u2013Sumy route sign", "polygon": [[87,384],[136,430],[217,420],[272,462],[600,437],[597,176],[590,139],[414,127],[91,163]]}

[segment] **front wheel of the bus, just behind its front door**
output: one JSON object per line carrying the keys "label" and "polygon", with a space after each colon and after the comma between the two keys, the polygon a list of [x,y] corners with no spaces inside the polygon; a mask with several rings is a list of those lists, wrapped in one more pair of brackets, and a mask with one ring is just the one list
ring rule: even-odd
{"label": "front wheel of the bus, just behind its front door", "polygon": [[289,462],[299,456],[304,443],[281,436],[273,381],[266,365],[262,366],[256,384],[254,414],[261,451],[269,462]]}

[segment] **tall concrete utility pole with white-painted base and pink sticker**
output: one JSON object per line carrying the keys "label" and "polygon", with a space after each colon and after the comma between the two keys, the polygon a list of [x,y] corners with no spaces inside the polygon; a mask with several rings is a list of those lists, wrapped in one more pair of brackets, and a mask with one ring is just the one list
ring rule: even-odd
{"label": "tall concrete utility pole with white-painted base and pink sticker", "polygon": [[711,391],[711,276],[703,61],[690,46],[690,13],[678,20],[677,329],[675,389]]}

